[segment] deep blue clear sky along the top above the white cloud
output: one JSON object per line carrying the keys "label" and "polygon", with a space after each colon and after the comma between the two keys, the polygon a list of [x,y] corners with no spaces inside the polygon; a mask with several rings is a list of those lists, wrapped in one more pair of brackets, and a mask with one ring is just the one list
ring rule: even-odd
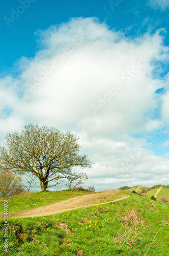
{"label": "deep blue clear sky along the top above the white cloud", "polygon": [[[113,2],[113,1],[112,1]],[[144,0],[121,0],[119,6],[111,9],[113,3],[108,1],[53,1],[35,0],[30,7],[14,23],[6,22],[4,17],[11,18],[11,9],[17,10],[19,1],[1,1],[1,71],[13,67],[21,56],[33,57],[38,49],[35,32],[51,25],[68,22],[71,17],[98,17],[101,22],[115,30],[126,30],[128,36],[134,37],[148,29],[168,27],[168,11],[153,9]],[[116,1],[114,1],[116,3]],[[117,3],[118,5],[118,3]],[[7,27],[9,25],[9,28]],[[165,35],[165,44],[169,44],[169,36]]]}

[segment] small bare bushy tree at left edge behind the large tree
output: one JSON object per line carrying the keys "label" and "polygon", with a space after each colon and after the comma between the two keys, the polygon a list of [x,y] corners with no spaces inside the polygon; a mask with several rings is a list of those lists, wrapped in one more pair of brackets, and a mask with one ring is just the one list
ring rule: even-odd
{"label": "small bare bushy tree at left edge behind the large tree", "polygon": [[24,187],[19,176],[11,171],[0,173],[0,197],[12,197],[23,193]]}

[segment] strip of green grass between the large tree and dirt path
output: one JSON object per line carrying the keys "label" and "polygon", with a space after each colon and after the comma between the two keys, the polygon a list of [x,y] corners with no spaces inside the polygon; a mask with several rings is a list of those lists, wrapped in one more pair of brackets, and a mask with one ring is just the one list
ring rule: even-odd
{"label": "strip of green grass between the large tree and dirt path", "polygon": [[10,213],[15,211],[27,210],[41,205],[51,204],[71,197],[88,195],[93,191],[61,190],[45,191],[36,193],[23,193],[14,197],[0,198],[0,212],[4,211],[4,200],[8,199],[8,210]]}

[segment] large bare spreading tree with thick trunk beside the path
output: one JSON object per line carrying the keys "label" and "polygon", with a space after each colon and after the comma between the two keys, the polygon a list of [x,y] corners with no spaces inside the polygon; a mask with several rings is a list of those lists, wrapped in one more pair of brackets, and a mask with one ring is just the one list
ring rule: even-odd
{"label": "large bare spreading tree with thick trunk beside the path", "polygon": [[[72,167],[92,166],[87,155],[79,154],[78,139],[71,132],[53,127],[25,125],[20,133],[7,134],[5,146],[0,147],[0,170],[31,172],[39,178],[41,191],[45,191],[70,177]],[[48,185],[49,182],[54,184]]]}

